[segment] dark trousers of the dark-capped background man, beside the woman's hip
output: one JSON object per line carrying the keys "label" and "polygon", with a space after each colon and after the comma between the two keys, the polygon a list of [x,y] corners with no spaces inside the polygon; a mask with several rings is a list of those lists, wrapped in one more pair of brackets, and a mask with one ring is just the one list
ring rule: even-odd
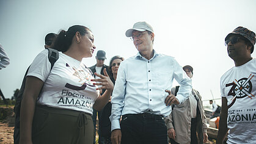
{"label": "dark trousers of the dark-capped background man, beside the woman's hip", "polygon": [[[93,114],[92,114],[92,120],[93,120],[93,126],[94,126],[94,138],[93,138],[93,143],[96,143],[96,142],[95,142],[95,136],[96,136],[96,120],[97,120],[97,113],[98,113],[98,120],[99,120],[99,124],[100,124],[102,112],[93,109]],[[104,144],[104,137],[101,137],[101,134],[100,134],[100,126],[99,126],[99,129],[98,129],[98,143]]]}

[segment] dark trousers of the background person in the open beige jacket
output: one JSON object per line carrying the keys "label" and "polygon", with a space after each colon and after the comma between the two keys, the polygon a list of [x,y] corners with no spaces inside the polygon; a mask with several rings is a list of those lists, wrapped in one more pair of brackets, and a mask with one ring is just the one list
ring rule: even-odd
{"label": "dark trousers of the background person in the open beige jacket", "polygon": [[[190,129],[190,143],[191,144],[197,144],[197,121],[196,121],[196,118],[191,118],[191,129]],[[179,144],[177,142],[175,142],[175,140],[173,139],[170,139],[170,143],[171,144]]]}

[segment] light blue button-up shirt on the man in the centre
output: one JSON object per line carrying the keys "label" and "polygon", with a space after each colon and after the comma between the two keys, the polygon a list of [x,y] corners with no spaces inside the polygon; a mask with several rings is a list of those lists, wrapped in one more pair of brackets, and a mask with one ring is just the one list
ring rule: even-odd
{"label": "light blue button-up shirt on the man in the centre", "polygon": [[138,52],[121,62],[112,93],[111,129],[120,129],[120,116],[125,114],[149,112],[167,117],[172,107],[164,103],[169,95],[165,90],[172,88],[174,78],[180,84],[176,98],[182,103],[191,93],[191,79],[173,57],[154,51],[147,60]]}

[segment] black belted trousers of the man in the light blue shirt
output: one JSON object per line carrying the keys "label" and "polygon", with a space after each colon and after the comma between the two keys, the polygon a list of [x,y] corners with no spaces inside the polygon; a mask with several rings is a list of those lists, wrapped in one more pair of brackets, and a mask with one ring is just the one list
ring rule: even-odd
{"label": "black belted trousers of the man in the light blue shirt", "polygon": [[167,128],[160,115],[123,115],[120,126],[122,144],[167,144]]}

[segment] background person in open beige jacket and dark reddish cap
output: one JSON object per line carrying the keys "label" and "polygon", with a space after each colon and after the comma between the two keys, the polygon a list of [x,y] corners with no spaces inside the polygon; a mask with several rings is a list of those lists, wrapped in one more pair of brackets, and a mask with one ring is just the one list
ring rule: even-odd
{"label": "background person in open beige jacket and dark reddish cap", "polygon": [[[190,65],[183,67],[189,78],[193,76]],[[177,95],[180,86],[173,87],[172,95]],[[208,141],[207,119],[203,110],[202,96],[192,88],[189,98],[180,105],[172,105],[169,117],[165,118],[170,143],[205,143]],[[198,139],[197,139],[198,137]]]}

